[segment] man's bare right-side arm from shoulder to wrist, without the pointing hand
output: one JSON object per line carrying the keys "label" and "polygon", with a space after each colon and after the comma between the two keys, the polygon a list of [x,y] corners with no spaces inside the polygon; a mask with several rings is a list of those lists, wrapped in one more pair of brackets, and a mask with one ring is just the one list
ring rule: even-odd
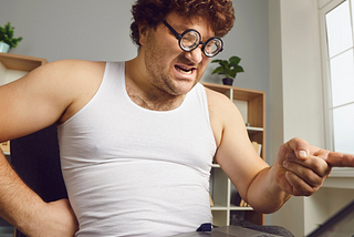
{"label": "man's bare right-side arm from shoulder to wrist, without the pointing hand", "polygon": [[243,118],[235,104],[223,95],[210,91],[207,93],[211,126],[218,143],[217,163],[241,197],[256,210],[274,212],[289,195],[268,175],[270,167],[253,148]]}

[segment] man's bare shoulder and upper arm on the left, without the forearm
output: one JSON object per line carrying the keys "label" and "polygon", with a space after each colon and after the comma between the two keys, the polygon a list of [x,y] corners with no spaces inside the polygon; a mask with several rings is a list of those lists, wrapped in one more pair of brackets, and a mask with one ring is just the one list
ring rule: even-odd
{"label": "man's bare shoulder and upper arm on the left, without the forearm", "polygon": [[0,86],[0,141],[63,122],[98,90],[104,62],[63,60],[46,63]]}

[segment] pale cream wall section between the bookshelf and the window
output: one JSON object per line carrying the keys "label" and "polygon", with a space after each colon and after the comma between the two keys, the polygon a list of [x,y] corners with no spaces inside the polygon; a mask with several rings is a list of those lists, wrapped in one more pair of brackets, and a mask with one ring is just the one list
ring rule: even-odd
{"label": "pale cream wall section between the bookshelf and the window", "polygon": [[[270,54],[277,55],[277,61],[271,63],[271,94],[275,93],[274,90],[281,90],[281,95],[271,97],[271,105],[278,112],[271,113],[271,121],[279,121],[271,124],[271,130],[277,131],[271,138],[282,143],[300,136],[310,144],[324,147],[316,1],[270,0],[269,7],[269,14],[272,16]],[[283,141],[275,137],[279,134]],[[278,145],[271,145],[272,152],[275,153]],[[319,218],[319,215],[310,213],[313,210],[311,207],[311,199],[292,197],[271,216],[271,223],[284,226],[294,236],[304,236],[316,227]]]}

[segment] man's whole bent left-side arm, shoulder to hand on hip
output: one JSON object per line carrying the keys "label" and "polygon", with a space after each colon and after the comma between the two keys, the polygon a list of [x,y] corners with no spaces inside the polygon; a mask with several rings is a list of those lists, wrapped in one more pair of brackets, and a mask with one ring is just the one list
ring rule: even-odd
{"label": "man's whole bent left-side arm, shoulder to hand on hip", "polygon": [[[37,132],[80,110],[98,87],[102,68],[93,62],[59,61],[0,86],[0,142]],[[73,236],[77,228],[69,202],[44,203],[1,151],[0,216],[28,236]]]}

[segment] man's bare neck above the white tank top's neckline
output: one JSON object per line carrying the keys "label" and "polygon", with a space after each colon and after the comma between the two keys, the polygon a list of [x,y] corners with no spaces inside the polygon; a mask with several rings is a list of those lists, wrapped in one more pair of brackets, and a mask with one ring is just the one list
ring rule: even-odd
{"label": "man's bare neck above the white tank top's neckline", "polygon": [[181,105],[184,95],[174,95],[154,85],[138,58],[125,63],[125,85],[131,100],[152,111],[171,111]]}

